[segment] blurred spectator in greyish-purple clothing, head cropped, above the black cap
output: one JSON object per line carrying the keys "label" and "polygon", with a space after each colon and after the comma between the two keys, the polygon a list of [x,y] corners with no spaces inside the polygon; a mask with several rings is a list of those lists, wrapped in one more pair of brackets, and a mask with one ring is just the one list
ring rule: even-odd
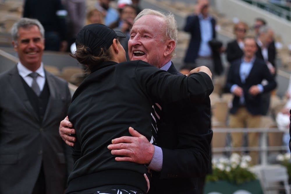
{"label": "blurred spectator in greyish-purple clothing, head cropped, above the black cap", "polygon": [[[68,45],[75,42],[78,32],[85,25],[86,1],[85,0],[65,0],[64,5],[68,11],[66,18],[67,27],[70,29],[67,34]],[[68,47],[68,50],[70,48]]]}

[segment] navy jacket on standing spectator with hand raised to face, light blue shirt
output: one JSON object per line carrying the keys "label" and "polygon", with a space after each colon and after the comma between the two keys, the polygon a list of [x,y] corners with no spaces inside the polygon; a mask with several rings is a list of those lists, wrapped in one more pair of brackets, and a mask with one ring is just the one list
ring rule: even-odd
{"label": "navy jacket on standing spectator with hand raised to face, light blue shirt", "polygon": [[[211,18],[212,24],[212,38],[216,38],[215,32],[215,20]],[[200,32],[200,23],[197,15],[190,15],[187,17],[186,25],[184,27],[185,32],[189,32],[191,34],[191,39],[189,42],[189,46],[186,52],[186,56],[184,58],[185,63],[195,63],[195,60],[198,57],[198,51],[201,42],[201,32]]]}

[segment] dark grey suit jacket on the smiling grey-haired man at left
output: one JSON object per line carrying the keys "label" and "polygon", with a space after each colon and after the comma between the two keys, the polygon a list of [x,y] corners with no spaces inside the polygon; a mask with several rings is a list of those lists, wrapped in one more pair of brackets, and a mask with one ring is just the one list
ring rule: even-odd
{"label": "dark grey suit jacket on the smiling grey-haired man at left", "polygon": [[70,92],[65,81],[45,74],[50,97],[41,124],[17,67],[0,75],[0,193],[31,193],[41,166],[47,193],[65,190],[72,151],[58,126],[67,114]]}

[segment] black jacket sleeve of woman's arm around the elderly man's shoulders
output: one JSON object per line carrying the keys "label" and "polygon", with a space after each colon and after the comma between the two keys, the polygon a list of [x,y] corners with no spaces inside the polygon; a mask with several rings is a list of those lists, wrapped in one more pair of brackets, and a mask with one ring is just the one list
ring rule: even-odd
{"label": "black jacket sleeve of woman's arm around the elderly man's shoulders", "polygon": [[204,72],[189,77],[172,75],[166,71],[139,61],[135,69],[136,78],[154,102],[172,103],[183,99],[201,102],[213,91],[211,78]]}

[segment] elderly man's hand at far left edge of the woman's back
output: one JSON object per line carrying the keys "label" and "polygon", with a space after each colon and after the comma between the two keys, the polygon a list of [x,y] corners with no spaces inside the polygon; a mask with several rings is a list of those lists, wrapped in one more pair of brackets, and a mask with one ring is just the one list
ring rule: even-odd
{"label": "elderly man's hand at far left edge of the woman's back", "polygon": [[69,127],[73,127],[73,124],[69,121],[68,116],[66,116],[66,118],[61,121],[58,132],[66,144],[73,147],[76,138],[70,136],[70,134],[75,134],[75,130]]}

